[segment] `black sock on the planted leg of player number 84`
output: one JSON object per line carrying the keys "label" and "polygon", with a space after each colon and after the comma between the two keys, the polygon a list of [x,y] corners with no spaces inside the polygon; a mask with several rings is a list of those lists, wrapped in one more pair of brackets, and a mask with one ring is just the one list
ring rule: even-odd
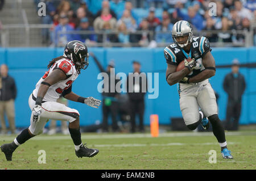
{"label": "black sock on the planted leg of player number 84", "polygon": [[[212,132],[214,136],[217,138],[219,143],[225,142],[225,131],[224,127],[221,123],[221,120],[218,118],[218,115],[212,115],[208,117],[210,123],[212,124]],[[226,146],[224,146],[226,147]],[[223,147],[223,148],[224,148]]]}

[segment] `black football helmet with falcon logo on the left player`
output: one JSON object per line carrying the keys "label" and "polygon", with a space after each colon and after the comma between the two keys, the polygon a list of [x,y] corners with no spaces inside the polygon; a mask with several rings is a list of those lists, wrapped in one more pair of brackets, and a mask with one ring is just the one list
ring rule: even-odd
{"label": "black football helmet with falcon logo on the left player", "polygon": [[64,56],[68,57],[76,66],[77,73],[80,74],[81,69],[88,68],[89,53],[84,43],[78,40],[69,41],[64,49]]}

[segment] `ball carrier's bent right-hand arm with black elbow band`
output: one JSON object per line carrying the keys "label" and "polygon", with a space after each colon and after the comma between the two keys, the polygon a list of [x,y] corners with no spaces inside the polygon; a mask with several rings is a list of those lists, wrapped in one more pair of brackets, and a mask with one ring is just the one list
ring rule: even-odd
{"label": "ball carrier's bent right-hand arm with black elbow band", "polygon": [[203,65],[205,67],[205,70],[201,71],[195,77],[191,77],[189,79],[189,83],[201,82],[215,75],[215,60],[210,51],[203,57]]}

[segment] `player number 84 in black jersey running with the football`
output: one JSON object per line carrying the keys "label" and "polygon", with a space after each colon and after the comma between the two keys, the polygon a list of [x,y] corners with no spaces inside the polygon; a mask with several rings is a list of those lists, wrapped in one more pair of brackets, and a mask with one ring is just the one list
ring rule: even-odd
{"label": "player number 84 in black jersey running with the football", "polygon": [[[187,127],[204,129],[212,124],[213,134],[221,146],[223,158],[232,159],[227,149],[224,127],[217,115],[216,97],[209,78],[215,74],[215,61],[210,53],[207,37],[193,36],[190,23],[180,20],[172,28],[174,43],[164,49],[167,61],[166,81],[170,86],[178,83],[180,110]],[[191,61],[187,59],[192,58]],[[184,68],[176,71],[184,60]],[[201,109],[199,111],[199,108]]]}

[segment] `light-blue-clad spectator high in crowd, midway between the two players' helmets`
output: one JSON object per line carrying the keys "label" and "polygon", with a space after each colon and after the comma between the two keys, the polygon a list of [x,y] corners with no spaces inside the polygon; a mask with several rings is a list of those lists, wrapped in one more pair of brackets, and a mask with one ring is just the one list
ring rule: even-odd
{"label": "light-blue-clad spectator high in crowd, midway between the two players' helmets", "polygon": [[118,20],[117,23],[120,24],[122,22],[125,23],[127,31],[129,31],[129,32],[136,31],[137,23],[136,23],[135,19],[131,16],[129,10],[123,11],[123,16],[121,19]]}

